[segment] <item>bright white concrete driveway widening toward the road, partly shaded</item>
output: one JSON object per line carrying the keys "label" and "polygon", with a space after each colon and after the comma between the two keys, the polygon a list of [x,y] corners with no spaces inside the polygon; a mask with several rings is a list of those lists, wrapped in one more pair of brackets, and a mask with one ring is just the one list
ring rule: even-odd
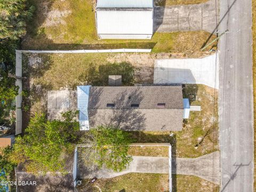
{"label": "bright white concrete driveway widening toward the road, partly shaded", "polygon": [[157,59],[154,84],[204,84],[219,89],[219,56],[200,59]]}

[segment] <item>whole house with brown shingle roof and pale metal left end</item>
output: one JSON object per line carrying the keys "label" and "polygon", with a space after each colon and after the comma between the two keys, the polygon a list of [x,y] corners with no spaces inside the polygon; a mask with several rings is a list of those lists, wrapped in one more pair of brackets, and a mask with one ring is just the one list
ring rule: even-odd
{"label": "whole house with brown shingle roof and pale metal left end", "polygon": [[77,106],[82,130],[180,131],[185,115],[181,86],[77,86]]}

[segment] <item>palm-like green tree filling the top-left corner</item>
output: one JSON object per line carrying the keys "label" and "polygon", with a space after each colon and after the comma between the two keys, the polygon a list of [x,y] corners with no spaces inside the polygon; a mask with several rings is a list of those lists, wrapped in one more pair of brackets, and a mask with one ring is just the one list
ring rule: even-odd
{"label": "palm-like green tree filling the top-left corner", "polygon": [[33,17],[34,10],[27,0],[0,0],[0,39],[24,36],[26,21]]}

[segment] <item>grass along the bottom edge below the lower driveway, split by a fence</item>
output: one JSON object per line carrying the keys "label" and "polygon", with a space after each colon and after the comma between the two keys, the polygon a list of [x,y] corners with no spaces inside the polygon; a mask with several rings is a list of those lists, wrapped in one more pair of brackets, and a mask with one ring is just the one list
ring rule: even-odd
{"label": "grass along the bottom edge below the lower driveway, split by a fence", "polygon": [[[172,181],[172,191],[218,191],[217,185],[191,175],[172,175]],[[169,191],[168,185],[168,174],[128,173],[112,179],[98,179],[93,184],[90,183],[90,180],[83,180],[78,191],[98,192],[100,188],[102,192],[167,192]]]}

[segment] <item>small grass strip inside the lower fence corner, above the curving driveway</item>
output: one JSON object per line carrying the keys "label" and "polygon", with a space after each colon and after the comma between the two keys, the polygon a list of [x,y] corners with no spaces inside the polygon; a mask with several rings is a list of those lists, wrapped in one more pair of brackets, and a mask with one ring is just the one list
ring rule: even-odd
{"label": "small grass strip inside the lower fence corner, above the curving driveway", "polygon": [[128,151],[132,156],[169,157],[167,146],[132,146]]}

